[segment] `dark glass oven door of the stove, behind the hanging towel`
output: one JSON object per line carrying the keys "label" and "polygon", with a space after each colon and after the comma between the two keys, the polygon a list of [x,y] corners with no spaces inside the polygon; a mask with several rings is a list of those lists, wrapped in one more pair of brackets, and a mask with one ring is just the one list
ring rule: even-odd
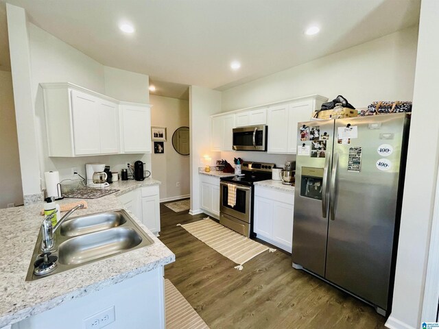
{"label": "dark glass oven door of the stove, behind the hanging towel", "polygon": [[252,212],[252,188],[250,186],[236,185],[236,204],[228,205],[228,184],[226,182],[219,183],[219,212],[230,215],[246,223],[250,223]]}

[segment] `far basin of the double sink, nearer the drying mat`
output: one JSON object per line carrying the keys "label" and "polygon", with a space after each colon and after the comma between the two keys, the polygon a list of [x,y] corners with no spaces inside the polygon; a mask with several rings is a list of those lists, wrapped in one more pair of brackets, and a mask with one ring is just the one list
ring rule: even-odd
{"label": "far basin of the double sink, nearer the drying mat", "polygon": [[60,234],[64,236],[78,236],[86,233],[115,228],[126,223],[122,212],[101,212],[83,217],[72,218],[60,226]]}

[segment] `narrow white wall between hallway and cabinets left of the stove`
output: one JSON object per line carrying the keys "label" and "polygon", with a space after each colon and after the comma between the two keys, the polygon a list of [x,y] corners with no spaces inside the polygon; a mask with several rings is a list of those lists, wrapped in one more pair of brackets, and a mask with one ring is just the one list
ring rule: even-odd
{"label": "narrow white wall between hallway and cabinets left of the stove", "polygon": [[211,152],[212,114],[221,111],[221,93],[209,88],[190,86],[189,122],[191,127],[191,210],[195,215],[200,212],[200,180],[198,167],[200,158],[210,155],[212,162],[219,158],[219,152]]}

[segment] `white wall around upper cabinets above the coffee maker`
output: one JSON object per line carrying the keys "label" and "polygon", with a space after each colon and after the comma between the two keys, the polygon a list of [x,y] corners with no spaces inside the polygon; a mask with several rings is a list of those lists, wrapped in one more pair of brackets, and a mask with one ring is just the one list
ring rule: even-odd
{"label": "white wall around upper cabinets above the coffee maker", "polygon": [[[61,179],[71,178],[72,167],[76,167],[78,172],[84,176],[85,164],[89,162],[105,163],[110,165],[112,171],[120,171],[126,168],[128,162],[132,164],[136,160],[142,160],[146,163],[146,169],[150,170],[150,154],[78,158],[49,158],[47,156],[43,96],[38,86],[40,82],[71,82],[123,101],[148,103],[149,77],[104,66],[36,25],[27,23],[27,27],[32,67],[32,101],[40,150],[38,153],[40,178],[43,180],[43,173],[50,170],[59,171]],[[44,182],[42,186],[45,186]]]}

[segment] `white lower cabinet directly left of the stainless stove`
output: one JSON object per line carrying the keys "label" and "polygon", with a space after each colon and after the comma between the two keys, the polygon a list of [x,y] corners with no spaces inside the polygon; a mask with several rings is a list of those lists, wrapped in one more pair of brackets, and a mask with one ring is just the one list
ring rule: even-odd
{"label": "white lower cabinet directly left of the stainless stove", "polygon": [[200,175],[200,194],[202,210],[219,218],[219,177]]}

